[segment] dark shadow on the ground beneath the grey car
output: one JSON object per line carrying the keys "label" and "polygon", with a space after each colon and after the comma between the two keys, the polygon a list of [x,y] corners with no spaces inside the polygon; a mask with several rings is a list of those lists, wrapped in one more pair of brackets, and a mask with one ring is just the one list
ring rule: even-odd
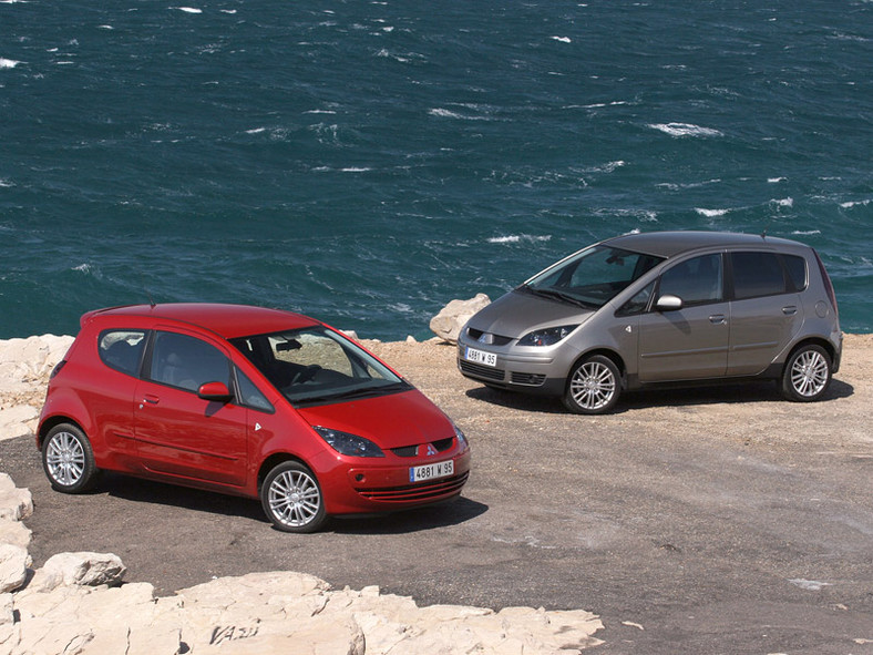
{"label": "dark shadow on the ground beneath the grey car", "polygon": [[[819,402],[854,395],[854,387],[833,379],[828,392]],[[537,413],[571,413],[559,399],[527,396],[490,387],[476,387],[466,391],[468,398],[482,400],[499,407]],[[688,407],[695,405],[733,405],[746,402],[788,402],[774,381],[713,382],[707,386],[657,387],[627,391],[618,399],[610,413],[620,415],[651,407]]]}

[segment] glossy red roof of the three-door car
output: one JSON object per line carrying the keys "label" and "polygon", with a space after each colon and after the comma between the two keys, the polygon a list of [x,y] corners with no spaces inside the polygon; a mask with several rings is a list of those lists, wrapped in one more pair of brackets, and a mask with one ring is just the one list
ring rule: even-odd
{"label": "glossy red roof of the three-door car", "polygon": [[82,325],[84,326],[96,316],[137,316],[175,321],[207,329],[225,339],[321,325],[314,318],[283,309],[217,303],[168,303],[110,307],[89,311],[82,316]]}

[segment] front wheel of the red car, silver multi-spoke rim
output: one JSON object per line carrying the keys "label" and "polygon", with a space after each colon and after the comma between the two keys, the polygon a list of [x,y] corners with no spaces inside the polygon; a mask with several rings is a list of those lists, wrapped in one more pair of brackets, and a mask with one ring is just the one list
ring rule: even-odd
{"label": "front wheel of the red car, silver multi-spoke rim", "polygon": [[283,532],[316,532],[327,521],[318,480],[296,461],[281,462],[267,473],[260,503],[267,518]]}

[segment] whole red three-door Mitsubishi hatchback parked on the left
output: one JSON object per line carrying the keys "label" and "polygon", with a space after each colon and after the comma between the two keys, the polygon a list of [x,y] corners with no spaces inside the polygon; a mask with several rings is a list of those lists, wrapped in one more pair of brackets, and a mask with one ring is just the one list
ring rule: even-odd
{"label": "whole red three-door Mitsubishi hatchback parked on the left", "polygon": [[444,501],[463,433],[420,391],[318,320],[238,305],[85,314],[52,373],[37,446],[52,487],[101,469],[259,498],[279,530]]}

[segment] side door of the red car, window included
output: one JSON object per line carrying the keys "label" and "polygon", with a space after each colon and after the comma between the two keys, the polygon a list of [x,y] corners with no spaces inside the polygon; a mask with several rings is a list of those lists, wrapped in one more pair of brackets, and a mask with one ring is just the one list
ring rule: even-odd
{"label": "side door of the red car, window included", "polygon": [[162,329],[146,359],[134,403],[143,467],[176,479],[245,484],[248,410],[197,396],[206,382],[234,388],[227,356],[198,337]]}

